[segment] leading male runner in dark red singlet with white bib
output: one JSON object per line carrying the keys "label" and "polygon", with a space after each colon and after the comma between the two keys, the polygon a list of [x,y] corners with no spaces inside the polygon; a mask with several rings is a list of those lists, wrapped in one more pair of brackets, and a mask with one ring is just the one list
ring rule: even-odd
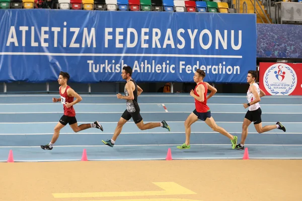
{"label": "leading male runner in dark red singlet with white bib", "polygon": [[[80,126],[78,126],[73,105],[79,103],[82,100],[82,97],[67,85],[68,80],[69,74],[67,72],[61,71],[58,78],[58,83],[61,85],[59,87],[59,93],[61,97],[53,97],[52,102],[61,102],[61,104],[63,104],[64,115],[61,117],[59,123],[55,126],[54,133],[49,144],[41,145],[41,148],[44,150],[52,150],[54,143],[59,137],[60,130],[67,124],[69,124],[69,126],[75,133],[88,128],[97,128],[103,131],[103,127],[99,124],[98,121],[95,121],[91,124],[81,124]],[[76,98],[75,100],[73,100],[74,97]]]}

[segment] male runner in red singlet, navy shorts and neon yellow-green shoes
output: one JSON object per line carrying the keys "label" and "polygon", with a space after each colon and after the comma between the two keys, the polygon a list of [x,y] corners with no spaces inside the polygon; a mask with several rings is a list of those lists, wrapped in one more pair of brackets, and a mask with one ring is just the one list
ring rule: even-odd
{"label": "male runner in red singlet, navy shorts and neon yellow-green shoes", "polygon": [[[190,135],[191,135],[191,125],[199,120],[204,121],[213,131],[221,133],[222,135],[228,137],[231,140],[232,148],[235,149],[237,144],[237,136],[233,136],[226,132],[223,128],[216,125],[214,119],[211,117],[211,111],[207,104],[207,99],[212,97],[217,89],[211,86],[209,83],[204,82],[205,72],[203,70],[197,69],[194,73],[194,82],[196,82],[195,89],[191,90],[190,95],[194,97],[195,100],[195,110],[189,115],[185,121],[186,130],[186,142],[183,145],[177,146],[178,149],[190,149]],[[207,90],[211,90],[211,93],[207,96]]]}

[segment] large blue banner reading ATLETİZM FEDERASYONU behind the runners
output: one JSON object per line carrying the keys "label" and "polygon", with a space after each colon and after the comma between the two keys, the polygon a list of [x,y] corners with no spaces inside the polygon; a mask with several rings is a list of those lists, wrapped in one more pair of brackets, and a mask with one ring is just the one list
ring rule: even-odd
{"label": "large blue banner reading ATLET\u0130ZM FEDERASYONU behind the runners", "polygon": [[[245,83],[256,65],[251,14],[0,10],[0,81]],[[236,23],[235,23],[236,22]]]}

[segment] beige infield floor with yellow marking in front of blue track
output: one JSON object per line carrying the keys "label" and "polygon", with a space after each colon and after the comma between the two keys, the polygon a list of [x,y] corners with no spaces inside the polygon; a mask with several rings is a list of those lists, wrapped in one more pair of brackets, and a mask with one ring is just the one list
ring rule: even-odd
{"label": "beige infield floor with yellow marking in front of blue track", "polygon": [[0,163],[0,200],[302,200],[302,160]]}

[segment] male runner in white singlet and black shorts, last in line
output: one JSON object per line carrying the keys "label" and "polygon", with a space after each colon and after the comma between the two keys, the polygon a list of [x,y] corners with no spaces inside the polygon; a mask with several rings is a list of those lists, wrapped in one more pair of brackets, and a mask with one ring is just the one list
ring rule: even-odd
{"label": "male runner in white singlet and black shorts, last in line", "polygon": [[248,103],[243,104],[243,107],[249,108],[244,117],[243,124],[242,124],[242,134],[241,134],[241,142],[236,145],[236,149],[244,150],[244,143],[248,136],[248,127],[253,122],[255,129],[258,133],[264,133],[273,129],[280,129],[282,131],[286,131],[285,127],[280,123],[277,122],[275,125],[267,125],[262,127],[262,120],[261,120],[261,108],[260,108],[260,97],[265,96],[263,90],[259,88],[259,85],[256,83],[257,72],[255,70],[249,70],[247,75],[247,82],[250,84],[248,92],[247,92],[247,99]]}

